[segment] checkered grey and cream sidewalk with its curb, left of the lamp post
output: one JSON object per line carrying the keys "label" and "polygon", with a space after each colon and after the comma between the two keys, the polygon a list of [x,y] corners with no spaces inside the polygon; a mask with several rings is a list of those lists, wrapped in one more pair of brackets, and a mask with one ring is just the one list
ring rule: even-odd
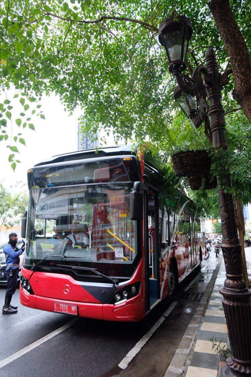
{"label": "checkered grey and cream sidewalk with its curb, left of the lamp post", "polygon": [[224,285],[225,265],[221,258],[187,327],[164,377],[217,377],[219,355],[208,340],[216,337],[227,344],[227,326],[219,288]]}

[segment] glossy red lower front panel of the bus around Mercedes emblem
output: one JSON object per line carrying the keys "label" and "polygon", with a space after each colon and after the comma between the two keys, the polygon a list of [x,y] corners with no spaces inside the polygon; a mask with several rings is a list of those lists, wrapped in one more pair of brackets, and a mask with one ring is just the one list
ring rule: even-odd
{"label": "glossy red lower front panel of the bus around Mercedes emblem", "polygon": [[[125,284],[141,282],[139,294],[119,305],[103,304],[84,289],[85,282],[79,282],[64,274],[26,270],[22,266],[21,274],[29,279],[34,294],[28,294],[20,285],[22,305],[54,312],[54,302],[70,303],[78,306],[80,317],[110,321],[135,322],[145,317],[145,273],[141,259],[132,279]],[[65,294],[63,287],[68,285],[70,292]],[[123,288],[123,285],[119,287]],[[81,300],[81,301],[80,301]]]}

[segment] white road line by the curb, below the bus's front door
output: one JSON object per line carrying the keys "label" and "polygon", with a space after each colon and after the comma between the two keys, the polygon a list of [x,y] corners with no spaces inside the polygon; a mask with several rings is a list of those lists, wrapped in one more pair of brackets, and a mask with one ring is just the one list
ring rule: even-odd
{"label": "white road line by the curb, below the bus's front door", "polygon": [[171,311],[175,308],[178,302],[174,301],[169,306],[169,308],[160,316],[160,318],[154,323],[151,329],[135,344],[135,346],[128,352],[128,354],[123,358],[123,360],[119,363],[119,367],[121,369],[126,369],[128,364],[132,361],[132,359],[137,355],[137,353],[141,350],[141,348],[146,344],[146,342],[151,338],[152,334],[155,333],[157,328],[161,325],[161,323],[169,316]]}

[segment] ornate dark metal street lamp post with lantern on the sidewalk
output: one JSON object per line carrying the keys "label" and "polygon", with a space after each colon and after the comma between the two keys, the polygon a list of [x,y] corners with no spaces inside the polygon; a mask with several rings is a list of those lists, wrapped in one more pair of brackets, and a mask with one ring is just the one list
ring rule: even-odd
{"label": "ornate dark metal street lamp post with lantern on the sidewalk", "polygon": [[[212,48],[205,54],[205,67],[198,66],[190,78],[182,74],[186,68],[186,52],[192,36],[190,21],[185,16],[170,16],[160,24],[159,41],[164,46],[169,60],[169,71],[175,75],[178,88],[175,100],[180,99],[184,112],[188,113],[195,127],[207,119],[207,98],[210,103],[210,131],[214,147],[228,148],[225,133],[225,117],[221,103],[222,86],[229,82],[232,70],[219,73],[216,55]],[[204,82],[201,79],[204,76]],[[183,98],[182,98],[183,96]],[[196,104],[196,106],[195,106]],[[231,186],[230,172],[225,179]],[[222,253],[226,268],[226,280],[220,290],[227,323],[232,356],[227,366],[221,369],[224,376],[251,375],[251,290],[242,276],[241,245],[238,238],[233,195],[225,193],[218,181],[222,226]]]}

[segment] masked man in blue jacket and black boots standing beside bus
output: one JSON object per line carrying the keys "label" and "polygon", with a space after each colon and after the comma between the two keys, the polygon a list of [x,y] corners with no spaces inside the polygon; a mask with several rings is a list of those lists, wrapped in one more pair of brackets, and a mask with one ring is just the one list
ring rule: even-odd
{"label": "masked man in blue jacket and black boots standing beside bus", "polygon": [[17,275],[19,271],[20,255],[24,251],[25,245],[18,249],[17,244],[17,233],[9,234],[9,242],[5,246],[5,258],[6,258],[6,275],[8,278],[7,289],[5,294],[5,303],[3,305],[3,314],[13,314],[17,313],[17,307],[11,305],[12,295],[16,291],[17,287]]}

